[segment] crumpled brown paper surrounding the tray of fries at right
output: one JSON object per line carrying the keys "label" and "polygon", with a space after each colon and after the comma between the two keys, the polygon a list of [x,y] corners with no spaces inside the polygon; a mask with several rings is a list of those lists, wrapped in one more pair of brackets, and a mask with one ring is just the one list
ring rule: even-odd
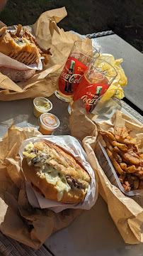
{"label": "crumpled brown paper surrounding the tray of fries at right", "polygon": [[[78,108],[76,108],[76,105],[78,105]],[[83,139],[84,149],[86,150],[89,162],[98,180],[99,193],[101,193],[101,196],[108,204],[108,211],[115,225],[125,242],[129,244],[143,242],[142,190],[139,196],[132,197],[135,200],[125,196],[120,189],[113,186],[107,176],[105,176],[94,152],[96,149],[98,129],[113,130],[114,127],[123,126],[127,127],[127,129],[132,129],[131,136],[137,139],[138,142],[141,142],[140,149],[142,150],[143,125],[119,110],[113,114],[110,120],[97,122],[97,124],[92,122],[91,124],[91,119],[89,119],[86,116],[86,112],[84,112],[84,103],[80,102],[79,104],[74,102],[73,108],[74,112],[71,112],[69,119],[71,135],[78,139]]]}

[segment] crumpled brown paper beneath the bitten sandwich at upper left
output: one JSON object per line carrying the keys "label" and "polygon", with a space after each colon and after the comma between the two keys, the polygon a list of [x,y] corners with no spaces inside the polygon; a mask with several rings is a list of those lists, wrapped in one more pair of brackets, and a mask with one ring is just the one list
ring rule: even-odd
{"label": "crumpled brown paper beneath the bitten sandwich at upper left", "polygon": [[[74,33],[64,32],[57,23],[67,16],[64,7],[46,11],[32,26],[26,26],[33,33],[42,48],[50,48],[50,60],[43,64],[42,71],[37,71],[33,78],[21,82],[13,82],[0,73],[0,100],[18,100],[27,97],[49,97],[56,90],[56,82],[69,56],[74,41],[81,38]],[[0,22],[0,28],[4,23]],[[11,26],[9,29],[16,29]],[[91,39],[84,41],[91,43]]]}

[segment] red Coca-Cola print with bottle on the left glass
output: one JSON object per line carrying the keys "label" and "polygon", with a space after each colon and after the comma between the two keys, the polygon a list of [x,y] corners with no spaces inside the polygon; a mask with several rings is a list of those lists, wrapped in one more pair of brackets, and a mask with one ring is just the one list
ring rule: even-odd
{"label": "red Coca-Cola print with bottle on the left glass", "polygon": [[69,56],[59,77],[59,90],[64,95],[74,95],[86,69],[86,65]]}

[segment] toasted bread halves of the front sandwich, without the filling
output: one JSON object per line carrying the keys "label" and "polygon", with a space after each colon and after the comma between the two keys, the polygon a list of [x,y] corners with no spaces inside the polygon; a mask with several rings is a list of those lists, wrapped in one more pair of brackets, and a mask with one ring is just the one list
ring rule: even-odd
{"label": "toasted bread halves of the front sandwich, without the filling", "polygon": [[[50,166],[53,166],[65,176],[70,176],[71,178],[76,179],[77,182],[81,182],[86,186],[86,188],[88,188],[91,177],[84,169],[81,168],[81,166],[79,166],[79,164],[76,163],[72,156],[69,156],[69,154],[65,153],[58,146],[47,144],[45,142],[34,143],[34,147],[38,151],[43,151],[52,157],[51,160],[48,161]],[[48,183],[47,178],[44,175],[40,175],[40,167],[33,165],[29,166],[28,161],[25,158],[23,159],[22,167],[25,178],[27,178],[35,191],[42,194],[45,198],[52,201],[58,201],[55,185]],[[87,190],[84,191],[82,188],[72,186],[68,192],[64,190],[62,199],[59,202],[80,203],[84,201],[86,192]]]}

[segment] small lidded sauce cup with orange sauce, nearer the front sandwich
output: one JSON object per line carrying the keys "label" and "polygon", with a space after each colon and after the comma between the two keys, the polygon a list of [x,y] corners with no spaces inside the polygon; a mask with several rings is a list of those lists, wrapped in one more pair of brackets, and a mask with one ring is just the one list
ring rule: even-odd
{"label": "small lidded sauce cup with orange sauce, nearer the front sandwich", "polygon": [[59,127],[60,122],[55,114],[45,113],[40,115],[39,124],[39,132],[43,135],[50,135]]}

